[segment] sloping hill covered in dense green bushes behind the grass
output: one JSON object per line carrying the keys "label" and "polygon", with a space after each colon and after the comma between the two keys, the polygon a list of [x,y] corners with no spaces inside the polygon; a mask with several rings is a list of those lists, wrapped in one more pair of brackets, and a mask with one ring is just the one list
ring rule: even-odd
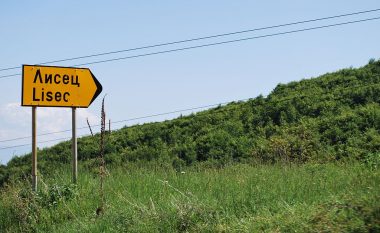
{"label": "sloping hill covered in dense green bushes behind the grass", "polygon": [[[380,152],[380,61],[279,84],[267,97],[232,102],[174,120],[125,127],[107,138],[108,164],[153,161],[177,169],[226,164],[366,160]],[[92,166],[99,135],[78,140]],[[42,174],[70,163],[70,142],[39,151]],[[0,167],[0,185],[30,172],[30,154]]]}

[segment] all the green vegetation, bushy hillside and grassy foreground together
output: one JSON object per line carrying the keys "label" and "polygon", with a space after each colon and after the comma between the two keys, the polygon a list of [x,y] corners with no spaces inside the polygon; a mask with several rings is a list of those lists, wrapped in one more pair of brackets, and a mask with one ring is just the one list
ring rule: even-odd
{"label": "all the green vegetation, bushy hillside and grassy foreground together", "polygon": [[0,232],[379,232],[380,61],[0,166]]}

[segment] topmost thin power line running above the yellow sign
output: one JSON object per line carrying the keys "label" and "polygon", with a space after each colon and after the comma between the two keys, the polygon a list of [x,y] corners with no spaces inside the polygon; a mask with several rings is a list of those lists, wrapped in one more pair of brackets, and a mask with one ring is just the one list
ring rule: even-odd
{"label": "topmost thin power line running above the yellow sign", "polygon": [[[248,30],[243,30],[243,31],[228,32],[228,33],[223,33],[223,34],[204,36],[204,37],[198,37],[198,38],[191,38],[191,39],[185,39],[185,40],[179,40],[179,41],[172,41],[172,42],[166,42],[166,43],[160,43],[160,44],[154,44],[154,45],[147,45],[147,46],[136,47],[136,48],[129,48],[129,49],[110,51],[110,52],[96,53],[96,54],[84,55],[84,56],[78,56],[78,57],[72,57],[72,58],[64,58],[64,59],[59,59],[59,60],[54,60],[54,61],[41,62],[38,64],[39,65],[46,65],[46,64],[52,64],[52,63],[57,63],[57,62],[73,61],[73,60],[79,60],[79,59],[84,59],[84,58],[98,57],[98,56],[124,53],[124,52],[130,52],[130,51],[136,51],[136,50],[142,50],[142,49],[148,49],[148,48],[155,48],[155,47],[162,47],[162,46],[168,46],[168,45],[174,45],[174,44],[188,43],[188,42],[199,41],[199,40],[206,40],[206,39],[212,39],[212,38],[218,38],[218,37],[224,37],[224,36],[237,35],[237,34],[242,34],[242,33],[247,33],[247,32],[262,31],[262,30],[267,30],[267,29],[288,27],[288,26],[317,22],[317,21],[328,20],[328,19],[336,19],[336,18],[342,18],[342,17],[347,17],[347,16],[366,14],[366,13],[376,12],[379,10],[380,10],[380,8],[372,9],[372,10],[366,10],[366,11],[358,11],[358,12],[346,13],[346,14],[341,14],[341,15],[334,15],[334,16],[328,16],[328,17],[322,17],[322,18],[316,18],[316,19],[309,19],[309,20],[303,20],[303,21],[297,21],[297,22],[291,22],[291,23],[285,23],[285,24],[266,26],[266,27],[261,27],[261,28],[248,29]],[[2,69],[0,69],[0,71],[14,70],[14,69],[20,69],[20,68],[21,68],[20,66],[14,66],[14,67],[2,68]],[[16,75],[17,74],[11,75],[11,76],[16,76]],[[11,77],[11,76],[8,76],[8,77]]]}

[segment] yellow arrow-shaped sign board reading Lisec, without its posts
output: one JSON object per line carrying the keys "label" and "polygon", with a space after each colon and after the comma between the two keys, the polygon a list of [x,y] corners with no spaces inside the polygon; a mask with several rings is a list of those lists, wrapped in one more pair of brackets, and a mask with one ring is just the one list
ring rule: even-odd
{"label": "yellow arrow-shaped sign board reading Lisec, without its posts", "polygon": [[102,92],[88,68],[22,67],[22,106],[87,108]]}

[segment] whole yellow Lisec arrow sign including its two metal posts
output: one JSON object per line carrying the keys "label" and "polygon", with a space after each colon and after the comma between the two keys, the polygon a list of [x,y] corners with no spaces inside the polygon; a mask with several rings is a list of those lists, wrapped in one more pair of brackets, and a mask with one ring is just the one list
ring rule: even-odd
{"label": "whole yellow Lisec arrow sign including its two metal posts", "polygon": [[37,191],[37,107],[72,108],[72,173],[78,177],[76,108],[87,108],[102,85],[87,68],[23,65],[22,106],[32,107],[32,185]]}

